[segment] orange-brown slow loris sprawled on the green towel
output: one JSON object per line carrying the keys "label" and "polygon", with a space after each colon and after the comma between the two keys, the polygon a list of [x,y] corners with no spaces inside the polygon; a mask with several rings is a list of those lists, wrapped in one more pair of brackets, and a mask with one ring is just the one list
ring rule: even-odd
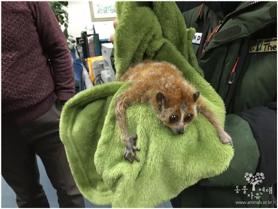
{"label": "orange-brown slow loris sprawled on the green towel", "polygon": [[222,143],[230,143],[231,137],[223,130],[216,115],[206,107],[200,92],[189,84],[182,73],[168,62],[145,61],[137,64],[120,77],[119,81],[132,81],[130,88],[118,96],[115,113],[126,150],[124,158],[133,162],[131,156],[139,161],[135,151],[137,134],[129,135],[126,123],[126,109],[135,103],[149,103],[157,117],[173,133],[183,134],[185,127],[194,120],[197,113],[214,125]]}

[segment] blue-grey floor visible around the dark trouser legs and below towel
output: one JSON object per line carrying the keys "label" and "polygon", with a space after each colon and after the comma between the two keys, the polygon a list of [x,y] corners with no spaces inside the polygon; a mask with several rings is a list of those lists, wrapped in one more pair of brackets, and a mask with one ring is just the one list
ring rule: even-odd
{"label": "blue-grey floor visible around the dark trouser legs and below towel", "polygon": [[[40,171],[40,183],[42,184],[43,189],[45,190],[45,193],[49,201],[49,205],[51,208],[58,208],[59,205],[57,202],[56,190],[52,187],[39,157],[37,158],[37,164]],[[111,208],[110,206],[105,207],[105,206],[94,205],[87,199],[85,199],[85,206],[86,208]],[[16,195],[14,191],[7,185],[7,183],[2,177],[1,177],[1,208],[18,208],[16,204]],[[172,208],[172,205],[170,202],[167,202],[157,206],[157,208]]]}

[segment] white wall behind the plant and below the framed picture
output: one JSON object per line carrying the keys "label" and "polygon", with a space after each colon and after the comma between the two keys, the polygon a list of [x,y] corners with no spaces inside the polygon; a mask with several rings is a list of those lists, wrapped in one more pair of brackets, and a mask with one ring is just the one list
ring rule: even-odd
{"label": "white wall behind the plant and below the framed picture", "polygon": [[[68,8],[65,8],[69,13],[68,33],[74,37],[80,37],[81,31],[87,29],[87,33],[92,33],[93,22],[91,19],[89,1],[69,1]],[[114,32],[113,21],[94,22],[96,33],[99,33],[99,38],[109,38]]]}

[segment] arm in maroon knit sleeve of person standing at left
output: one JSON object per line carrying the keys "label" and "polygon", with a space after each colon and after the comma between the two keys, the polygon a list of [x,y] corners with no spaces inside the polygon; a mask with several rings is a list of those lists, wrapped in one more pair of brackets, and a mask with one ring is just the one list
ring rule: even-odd
{"label": "arm in maroon knit sleeve of person standing at left", "polygon": [[59,101],[74,96],[75,82],[68,44],[47,2],[29,2],[43,51],[50,60]]}

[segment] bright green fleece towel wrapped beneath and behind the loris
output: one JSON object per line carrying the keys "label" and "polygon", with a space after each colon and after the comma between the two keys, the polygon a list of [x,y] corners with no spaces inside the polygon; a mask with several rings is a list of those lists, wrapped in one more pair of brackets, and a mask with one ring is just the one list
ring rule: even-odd
{"label": "bright green fleece towel wrapped beneath and behind the loris", "polygon": [[[223,101],[202,77],[191,46],[194,29],[174,2],[117,2],[115,32],[117,77],[143,59],[176,65],[202,99],[225,119]],[[81,193],[94,204],[112,207],[155,207],[200,179],[225,171],[233,157],[212,124],[203,116],[176,135],[155,116],[148,104],[127,110],[130,134],[137,133],[140,162],[124,160],[125,146],[114,114],[116,97],[130,83],[111,82],[85,90],[64,106],[60,121],[63,141]]]}

